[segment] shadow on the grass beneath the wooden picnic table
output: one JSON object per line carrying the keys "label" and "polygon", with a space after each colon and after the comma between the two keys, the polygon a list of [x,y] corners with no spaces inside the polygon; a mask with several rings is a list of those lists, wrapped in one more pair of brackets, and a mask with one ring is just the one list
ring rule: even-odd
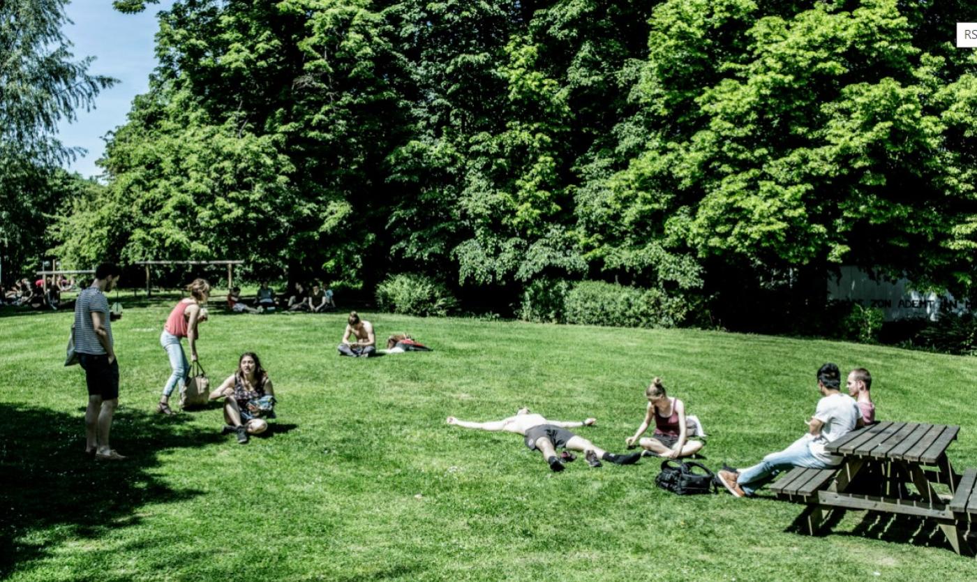
{"label": "shadow on the grass beneath the wooden picnic table", "polygon": [[[850,536],[925,548],[942,548],[949,552],[954,551],[936,521],[883,512],[856,512],[856,515],[862,514],[862,520],[854,529],[851,531],[833,531],[833,528],[841,522],[846,513],[846,510],[832,510],[828,519],[822,524],[818,535]],[[797,520],[794,520],[786,531],[806,535],[807,525],[803,517],[799,516]]]}

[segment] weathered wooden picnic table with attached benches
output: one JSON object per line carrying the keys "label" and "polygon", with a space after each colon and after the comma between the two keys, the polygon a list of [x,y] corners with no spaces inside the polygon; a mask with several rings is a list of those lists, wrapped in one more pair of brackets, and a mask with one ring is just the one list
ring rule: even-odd
{"label": "weathered wooden picnic table with attached benches", "polygon": [[[776,483],[777,491],[807,504],[802,519],[812,534],[827,511],[899,514],[935,520],[957,554],[973,556],[966,538],[971,517],[977,520],[977,470],[961,478],[950,464],[947,448],[958,432],[952,425],[876,423],[826,445],[843,458],[836,470],[794,469]],[[937,485],[949,495],[938,493]]]}

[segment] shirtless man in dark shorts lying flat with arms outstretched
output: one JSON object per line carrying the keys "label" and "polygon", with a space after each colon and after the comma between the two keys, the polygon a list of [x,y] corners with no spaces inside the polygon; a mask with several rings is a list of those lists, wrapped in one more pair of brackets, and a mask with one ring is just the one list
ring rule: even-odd
{"label": "shirtless man in dark shorts lying flat with arms outstretched", "polygon": [[553,421],[546,420],[541,414],[532,414],[529,408],[520,408],[515,416],[486,423],[458,420],[453,416],[447,417],[447,424],[465,429],[479,429],[482,431],[504,431],[516,433],[525,437],[526,446],[530,450],[538,450],[550,469],[555,472],[564,470],[564,461],[573,461],[575,457],[566,450],[557,455],[556,449],[570,449],[580,451],[591,467],[600,467],[601,460],[617,465],[632,465],[641,458],[641,453],[616,455],[594,445],[584,437],[578,437],[567,429],[575,427],[593,426],[597,419],[588,418],[583,421]]}

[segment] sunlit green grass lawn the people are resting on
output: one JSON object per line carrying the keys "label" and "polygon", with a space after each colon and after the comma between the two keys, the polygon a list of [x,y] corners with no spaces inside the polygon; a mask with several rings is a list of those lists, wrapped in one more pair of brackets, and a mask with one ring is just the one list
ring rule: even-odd
{"label": "sunlit green grass lawn the people are resting on", "polygon": [[[123,303],[126,298],[123,297]],[[973,580],[935,525],[791,531],[769,492],[683,498],[658,463],[551,473],[520,437],[466,431],[527,405],[622,450],[659,375],[710,433],[707,465],[745,466],[805,430],[825,361],[875,379],[877,416],[958,424],[977,464],[977,358],[695,330],[615,330],[367,313],[377,335],[435,348],[335,353],[345,316],[225,315],[201,326],[212,380],[255,351],[278,419],[245,446],[219,407],[152,413],[169,375],[169,301],[113,324],[121,366],[112,444],[84,454],[84,373],[64,368],[69,312],[0,312],[0,578],[11,580]],[[215,306],[216,308],[216,306]],[[219,312],[219,309],[215,309]]]}

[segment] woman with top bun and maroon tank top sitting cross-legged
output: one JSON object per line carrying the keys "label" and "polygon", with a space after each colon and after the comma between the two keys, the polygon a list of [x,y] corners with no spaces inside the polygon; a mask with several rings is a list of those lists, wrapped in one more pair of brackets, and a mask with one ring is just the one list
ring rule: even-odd
{"label": "woman with top bun and maroon tank top sitting cross-legged", "polygon": [[[701,440],[689,440],[689,425],[692,425],[695,433],[700,432],[701,425],[698,422],[699,419],[685,415],[685,403],[676,397],[668,397],[660,378],[652,381],[648,389],[645,390],[645,396],[648,397],[645,420],[642,421],[633,437],[624,439],[628,448],[637,442],[644,449],[643,455],[658,456],[664,459],[689,457],[698,453],[705,443]],[[693,422],[690,423],[689,421]],[[639,441],[638,437],[644,435],[653,423],[655,433],[652,437],[642,438]]]}

